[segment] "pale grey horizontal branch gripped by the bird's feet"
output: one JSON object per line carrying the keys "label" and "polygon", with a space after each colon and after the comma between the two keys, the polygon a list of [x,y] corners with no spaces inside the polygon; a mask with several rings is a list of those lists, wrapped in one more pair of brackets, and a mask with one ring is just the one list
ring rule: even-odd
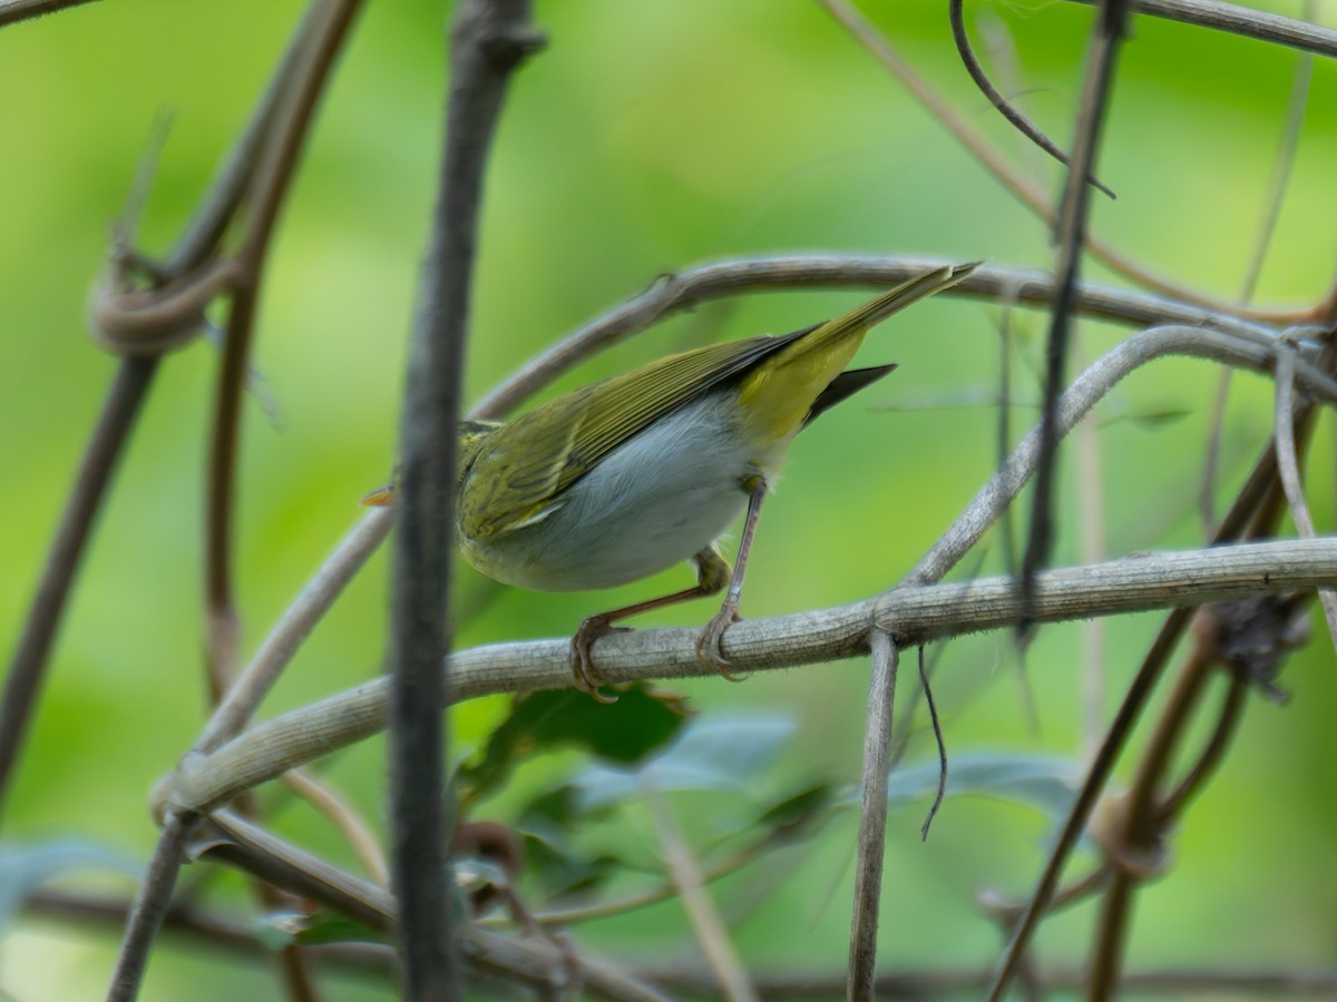
{"label": "pale grey horizontal branch gripped by the bird's feet", "polygon": [[[1040,574],[1034,621],[1115,616],[1201,605],[1247,595],[1316,588],[1337,581],[1337,538],[1278,540],[1203,550],[1147,553]],[[868,652],[869,631],[885,629],[902,645],[999,629],[1023,615],[1012,578],[902,587],[853,605],[730,628],[725,652],[738,672],[793,668]],[[604,683],[714,675],[697,660],[697,631],[616,633],[595,647]],[[571,685],[567,640],[496,644],[452,655],[456,700],[497,692]],[[209,810],[385,727],[386,683],[365,683],[262,723],[213,755],[187,755],[155,790],[155,810]]]}

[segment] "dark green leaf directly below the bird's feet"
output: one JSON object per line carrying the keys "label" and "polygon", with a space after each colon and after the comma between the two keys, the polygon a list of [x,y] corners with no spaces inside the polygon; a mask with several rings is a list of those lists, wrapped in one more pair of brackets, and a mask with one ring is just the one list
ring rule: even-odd
{"label": "dark green leaf directly below the bird's feet", "polygon": [[636,764],[673,740],[686,719],[679,699],[642,683],[620,691],[611,704],[570,689],[535,692],[515,701],[488,739],[483,759],[461,767],[459,778],[471,787],[464,802],[493,792],[520,762],[548,748],[584,748],[602,759]]}

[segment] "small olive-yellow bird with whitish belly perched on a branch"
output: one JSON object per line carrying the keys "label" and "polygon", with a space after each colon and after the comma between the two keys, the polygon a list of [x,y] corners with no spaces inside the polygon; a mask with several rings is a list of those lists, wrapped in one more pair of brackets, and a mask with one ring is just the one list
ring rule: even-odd
{"label": "small olive-yellow bird with whitish belly perched on a branch", "polygon": [[[695,587],[580,624],[571,639],[575,685],[600,697],[591,645],[623,629],[612,625],[616,620],[726,585],[697,653],[733,677],[721,644],[738,620],[761,502],[790,441],[896,367],[845,370],[873,325],[955,286],[975,267],[935,269],[792,334],[660,358],[515,421],[460,422],[459,546],[488,577],[545,592],[612,588],[690,561]],[[393,496],[393,486],[381,488],[364,504],[390,504]],[[715,540],[745,508],[730,572]]]}

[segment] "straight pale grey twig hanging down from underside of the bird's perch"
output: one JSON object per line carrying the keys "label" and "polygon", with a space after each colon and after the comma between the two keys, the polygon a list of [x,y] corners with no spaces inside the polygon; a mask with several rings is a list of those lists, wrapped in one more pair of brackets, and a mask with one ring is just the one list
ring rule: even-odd
{"label": "straight pale grey twig hanging down from underside of the bird's perch", "polygon": [[862,796],[858,806],[858,842],[854,858],[854,907],[849,930],[849,999],[874,998],[877,981],[877,918],[882,902],[882,858],[886,852],[886,798],[890,770],[892,721],[896,708],[896,669],[900,649],[884,629],[873,629],[869,643],[873,672],[864,724]]}

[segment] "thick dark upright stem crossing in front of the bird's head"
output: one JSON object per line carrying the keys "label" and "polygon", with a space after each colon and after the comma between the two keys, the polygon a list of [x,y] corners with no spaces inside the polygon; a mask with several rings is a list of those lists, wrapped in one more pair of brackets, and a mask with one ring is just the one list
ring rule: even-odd
{"label": "thick dark upright stem crossing in front of the bird's head", "polygon": [[483,174],[511,73],[539,44],[529,8],[529,0],[471,0],[456,12],[440,188],[409,351],[390,613],[390,807],[410,999],[459,995],[444,859],[441,715],[456,422]]}

